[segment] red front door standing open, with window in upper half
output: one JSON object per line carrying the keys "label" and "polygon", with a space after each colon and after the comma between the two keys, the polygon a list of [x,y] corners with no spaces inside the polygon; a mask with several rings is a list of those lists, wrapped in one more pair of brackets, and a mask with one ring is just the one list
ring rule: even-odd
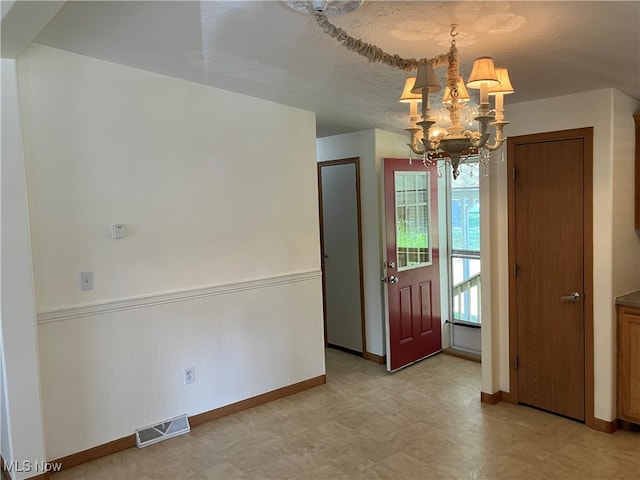
{"label": "red front door standing open, with window in upper half", "polygon": [[436,167],[384,159],[387,369],[442,350]]}

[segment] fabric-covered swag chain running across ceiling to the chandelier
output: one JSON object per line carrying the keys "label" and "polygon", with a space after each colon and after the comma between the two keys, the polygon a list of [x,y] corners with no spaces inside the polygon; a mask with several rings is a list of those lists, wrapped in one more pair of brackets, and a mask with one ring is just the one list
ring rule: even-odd
{"label": "fabric-covered swag chain running across ceiling to the chandelier", "polygon": [[350,36],[341,28],[333,25],[323,12],[316,11],[314,12],[313,17],[324,33],[335,38],[347,50],[355,52],[358,55],[362,55],[363,57],[367,57],[369,62],[381,62],[385,65],[389,65],[390,67],[399,68],[400,70],[407,72],[416,70],[419,62],[429,62],[434,67],[447,65],[449,53],[443,53],[433,58],[422,58],[420,60],[416,60],[415,58],[402,58],[397,53],[391,55],[376,45],[363,42],[360,39]]}

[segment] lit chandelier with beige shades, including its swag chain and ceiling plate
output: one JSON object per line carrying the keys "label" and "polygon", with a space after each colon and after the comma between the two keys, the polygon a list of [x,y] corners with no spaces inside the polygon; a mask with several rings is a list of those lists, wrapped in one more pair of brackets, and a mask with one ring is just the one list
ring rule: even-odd
{"label": "lit chandelier with beige shades, including its swag chain and ceiling plate", "polygon": [[[312,13],[316,23],[329,36],[335,38],[345,48],[369,59],[370,62],[382,62],[386,65],[411,72],[417,71],[405,81],[405,88],[400,97],[401,102],[410,104],[409,127],[411,152],[422,155],[425,164],[431,164],[437,159],[443,159],[451,165],[453,178],[459,175],[459,165],[470,155],[480,155],[481,162],[487,171],[491,151],[497,150],[506,140],[504,127],[509,122],[504,115],[504,95],[513,93],[506,68],[496,68],[491,57],[480,57],[474,61],[471,76],[466,83],[470,89],[480,90],[478,114],[474,118],[478,122],[478,130],[471,131],[461,123],[462,111],[470,96],[465,88],[465,82],[460,76],[460,61],[456,47],[457,25],[451,25],[451,45],[447,53],[434,58],[420,60],[405,59],[399,55],[391,55],[381,48],[355,39],[341,28],[333,25],[327,18],[327,13],[345,13],[362,4],[363,0],[353,2],[320,1],[301,2],[287,1],[284,3],[298,11]],[[340,7],[336,7],[342,6]],[[337,10],[331,11],[330,8]],[[435,68],[446,67],[446,86],[442,97],[442,105],[449,113],[450,125],[441,128],[432,116],[430,95],[442,90],[435,75]],[[491,108],[489,97],[495,98],[494,108]],[[421,103],[421,115],[418,116],[418,104]],[[495,130],[493,143],[489,142],[489,126]]]}

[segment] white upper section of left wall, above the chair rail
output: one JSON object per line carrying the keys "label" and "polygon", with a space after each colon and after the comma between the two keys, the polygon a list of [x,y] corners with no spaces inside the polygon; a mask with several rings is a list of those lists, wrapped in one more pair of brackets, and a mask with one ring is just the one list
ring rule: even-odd
{"label": "white upper section of left wall, above the chair rail", "polygon": [[318,268],[312,113],[42,46],[20,67],[39,310]]}

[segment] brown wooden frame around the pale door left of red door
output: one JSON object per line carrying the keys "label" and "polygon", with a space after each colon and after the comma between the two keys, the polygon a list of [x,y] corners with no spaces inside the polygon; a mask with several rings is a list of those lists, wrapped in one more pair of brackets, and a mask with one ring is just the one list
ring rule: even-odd
{"label": "brown wooden frame around the pale door left of red door", "polygon": [[325,160],[317,163],[318,170],[318,212],[320,219],[320,265],[322,268],[322,318],[324,322],[324,345],[328,344],[327,337],[327,285],[325,275],[325,263],[324,263],[324,217],[322,212],[322,168],[332,167],[335,165],[348,165],[354,164],[356,168],[356,212],[358,222],[358,263],[359,272],[358,277],[360,281],[360,324],[362,334],[362,356],[365,359],[371,360],[369,352],[367,351],[367,327],[365,317],[365,301],[364,301],[364,258],[362,253],[362,205],[360,200],[360,157],[343,158],[339,160]]}

